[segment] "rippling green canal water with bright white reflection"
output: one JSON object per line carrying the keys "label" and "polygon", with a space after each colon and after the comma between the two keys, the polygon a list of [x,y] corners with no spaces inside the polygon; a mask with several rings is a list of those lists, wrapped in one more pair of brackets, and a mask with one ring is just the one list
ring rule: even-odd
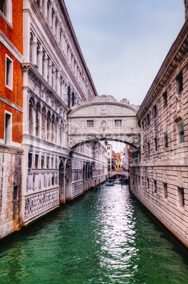
{"label": "rippling green canal water with bright white reflection", "polygon": [[127,186],[101,186],[0,247],[0,283],[188,283],[185,249]]}

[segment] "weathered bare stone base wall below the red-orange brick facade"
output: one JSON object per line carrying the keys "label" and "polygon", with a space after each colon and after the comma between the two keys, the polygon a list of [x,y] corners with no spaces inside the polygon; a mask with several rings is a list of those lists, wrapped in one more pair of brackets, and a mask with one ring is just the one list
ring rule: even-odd
{"label": "weathered bare stone base wall below the red-orange brick facade", "polygon": [[22,155],[0,152],[0,239],[20,228]]}

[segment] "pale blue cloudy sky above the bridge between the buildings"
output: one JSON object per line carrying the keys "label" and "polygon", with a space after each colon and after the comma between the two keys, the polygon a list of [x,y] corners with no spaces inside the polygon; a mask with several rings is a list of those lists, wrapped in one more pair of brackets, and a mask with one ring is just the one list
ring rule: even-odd
{"label": "pale blue cloudy sky above the bridge between the buildings", "polygon": [[65,0],[98,95],[141,105],[184,24],[183,0]]}

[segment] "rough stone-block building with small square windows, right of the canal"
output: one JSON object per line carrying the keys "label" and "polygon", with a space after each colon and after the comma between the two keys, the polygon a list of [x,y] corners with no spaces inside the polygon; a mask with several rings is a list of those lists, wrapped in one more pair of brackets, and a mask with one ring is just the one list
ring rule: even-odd
{"label": "rough stone-block building with small square windows, right of the canal", "polygon": [[[188,247],[188,20],[173,42],[137,117],[141,149],[131,191]],[[135,153],[134,153],[135,154]]]}

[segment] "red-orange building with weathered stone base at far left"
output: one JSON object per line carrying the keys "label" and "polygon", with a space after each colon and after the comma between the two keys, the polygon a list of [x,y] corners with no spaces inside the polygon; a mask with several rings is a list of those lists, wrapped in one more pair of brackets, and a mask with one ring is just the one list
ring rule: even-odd
{"label": "red-orange building with weathered stone base at far left", "polygon": [[3,0],[0,3],[0,239],[20,227],[23,155],[22,9],[22,1]]}

